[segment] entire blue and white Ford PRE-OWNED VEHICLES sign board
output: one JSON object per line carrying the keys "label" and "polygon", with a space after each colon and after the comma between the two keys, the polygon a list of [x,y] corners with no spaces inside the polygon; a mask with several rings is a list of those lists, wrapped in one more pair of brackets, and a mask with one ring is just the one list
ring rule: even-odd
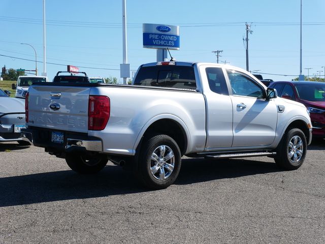
{"label": "entire blue and white Ford PRE-OWNED VEHICLES sign board", "polygon": [[179,26],[143,24],[143,47],[179,50]]}

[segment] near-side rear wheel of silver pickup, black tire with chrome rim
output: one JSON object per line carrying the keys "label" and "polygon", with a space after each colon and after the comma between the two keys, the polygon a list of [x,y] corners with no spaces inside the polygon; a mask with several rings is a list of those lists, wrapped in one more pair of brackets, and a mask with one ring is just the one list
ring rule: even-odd
{"label": "near-side rear wheel of silver pickup, black tire with chrome rim", "polygon": [[176,180],[181,153],[176,141],[167,135],[152,136],[141,147],[137,177],[145,187],[165,189]]}

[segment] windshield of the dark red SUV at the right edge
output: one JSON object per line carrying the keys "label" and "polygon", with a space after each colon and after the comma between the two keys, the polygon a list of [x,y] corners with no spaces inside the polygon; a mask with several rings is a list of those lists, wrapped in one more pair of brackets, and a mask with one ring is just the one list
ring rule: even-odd
{"label": "windshield of the dark red SUV at the right edge", "polygon": [[325,101],[325,83],[324,84],[306,84],[296,85],[299,98],[306,101]]}

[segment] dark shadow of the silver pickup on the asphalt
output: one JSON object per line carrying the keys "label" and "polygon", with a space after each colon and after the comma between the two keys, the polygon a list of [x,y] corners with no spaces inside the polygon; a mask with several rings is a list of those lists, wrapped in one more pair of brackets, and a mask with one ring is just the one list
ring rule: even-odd
{"label": "dark shadow of the silver pickup on the asphalt", "polygon": [[[275,163],[250,160],[183,159],[175,185],[278,172]],[[72,170],[0,178],[0,207],[150,191],[134,184],[131,172],[108,165],[95,175]],[[168,191],[168,189],[167,189]]]}

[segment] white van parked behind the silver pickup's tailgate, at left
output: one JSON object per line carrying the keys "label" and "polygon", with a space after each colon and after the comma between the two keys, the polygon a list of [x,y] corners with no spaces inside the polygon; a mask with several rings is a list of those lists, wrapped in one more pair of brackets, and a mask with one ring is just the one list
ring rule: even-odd
{"label": "white van parked behind the silver pickup's tailgate, at left", "polygon": [[48,78],[46,76],[35,76],[35,75],[19,76],[17,79],[17,84],[12,85],[12,88],[16,89],[15,97],[24,99],[29,86],[36,82],[48,82]]}

